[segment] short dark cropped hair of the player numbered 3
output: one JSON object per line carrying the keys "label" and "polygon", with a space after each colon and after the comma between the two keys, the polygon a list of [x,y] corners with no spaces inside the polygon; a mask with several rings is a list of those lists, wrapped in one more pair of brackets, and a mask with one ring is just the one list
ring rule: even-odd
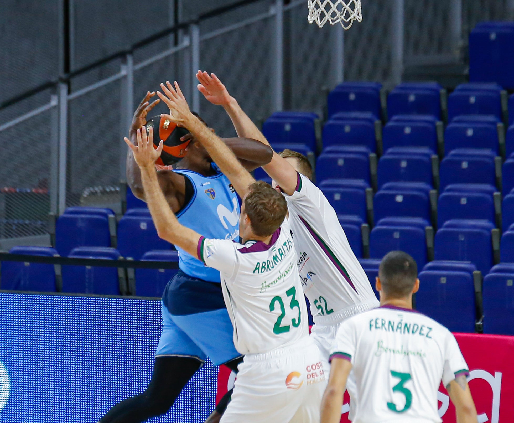
{"label": "short dark cropped hair of the player numbered 3", "polygon": [[414,289],[417,264],[406,252],[391,251],[380,262],[378,277],[387,297],[405,298]]}

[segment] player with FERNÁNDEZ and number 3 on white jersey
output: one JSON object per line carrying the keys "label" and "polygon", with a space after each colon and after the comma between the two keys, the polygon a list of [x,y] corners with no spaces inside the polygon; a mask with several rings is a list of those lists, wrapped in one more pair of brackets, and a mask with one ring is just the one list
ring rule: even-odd
{"label": "player with FERN\u00c1NDEZ and number 3 on white jersey", "polygon": [[380,308],[343,322],[332,345],[322,423],[339,423],[344,385],[353,369],[357,404],[353,423],[439,423],[437,390],[448,390],[458,423],[477,423],[466,381],[468,365],[443,325],[412,310],[417,266],[402,251],[380,263]]}

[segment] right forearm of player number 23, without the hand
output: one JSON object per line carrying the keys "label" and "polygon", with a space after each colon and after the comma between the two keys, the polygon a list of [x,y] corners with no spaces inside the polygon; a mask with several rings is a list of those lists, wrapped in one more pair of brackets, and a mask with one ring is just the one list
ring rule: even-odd
{"label": "right forearm of player number 23, without the hand", "polygon": [[228,146],[198,119],[191,119],[187,127],[243,198],[248,191],[248,186],[255,181],[250,173],[237,160]]}

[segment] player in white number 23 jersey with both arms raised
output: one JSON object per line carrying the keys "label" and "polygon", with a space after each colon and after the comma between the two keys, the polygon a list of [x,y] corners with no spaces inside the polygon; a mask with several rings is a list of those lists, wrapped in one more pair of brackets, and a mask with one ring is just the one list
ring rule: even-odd
{"label": "player in white number 23 jersey with both arms raised", "polygon": [[[191,114],[175,82],[161,84],[158,96],[170,107],[163,115],[187,127],[204,145],[243,198],[243,243],[206,239],[178,222],[162,194],[154,162],[153,130],[138,130],[137,146],[125,138],[141,168],[145,198],[159,236],[221,273],[223,295],[234,326],[238,367],[232,401],[222,423],[317,423],[326,386],[321,357],[308,335],[307,310],[296,271],[297,253],[282,195],[255,182],[231,150]],[[207,194],[207,192],[206,192]],[[213,193],[215,195],[215,193]],[[201,216],[198,216],[201,218]]]}

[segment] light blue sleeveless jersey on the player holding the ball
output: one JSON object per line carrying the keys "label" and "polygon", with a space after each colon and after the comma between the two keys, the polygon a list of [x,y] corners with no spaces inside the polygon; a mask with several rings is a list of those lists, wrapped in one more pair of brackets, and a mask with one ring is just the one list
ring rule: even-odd
{"label": "light blue sleeveless jersey on the player holding the ball", "polygon": [[[212,167],[217,172],[214,176],[203,176],[184,169],[174,170],[189,177],[194,188],[189,205],[177,214],[178,221],[206,238],[238,239],[240,207],[237,195],[228,178],[214,163]],[[181,248],[175,248],[179,255],[178,266],[184,273],[204,281],[220,282],[218,270],[205,266]]]}

